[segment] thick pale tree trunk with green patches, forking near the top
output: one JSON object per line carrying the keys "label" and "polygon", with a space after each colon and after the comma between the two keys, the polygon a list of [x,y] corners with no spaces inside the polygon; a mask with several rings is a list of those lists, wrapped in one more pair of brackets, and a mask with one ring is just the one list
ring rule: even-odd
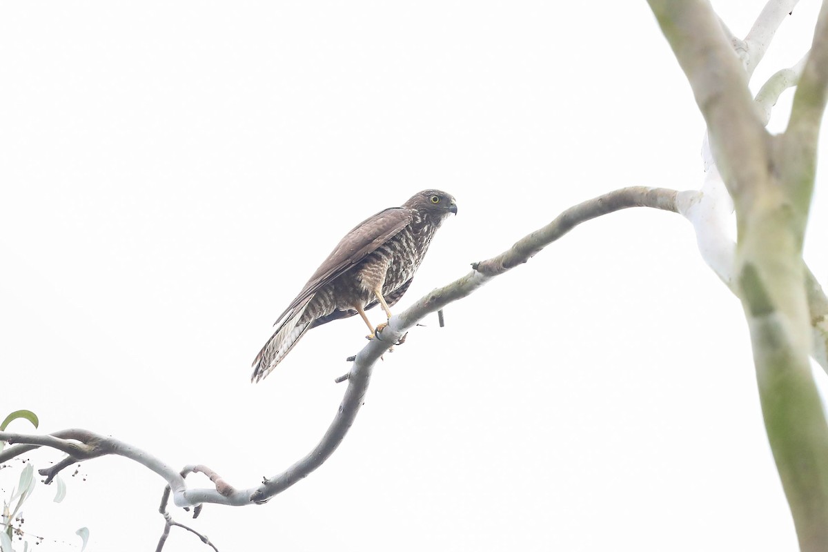
{"label": "thick pale tree trunk with green patches, forking near the top", "polygon": [[[765,427],[800,547],[828,550],[828,425],[808,361],[814,321],[802,261],[826,104],[828,2],[802,65],[791,121],[779,136],[764,129],[764,113],[750,97],[749,72],[758,60],[740,63],[710,2],[649,3],[690,81],[733,198],[733,289],[748,320]],[[768,2],[754,26],[764,42],[795,3]]]}

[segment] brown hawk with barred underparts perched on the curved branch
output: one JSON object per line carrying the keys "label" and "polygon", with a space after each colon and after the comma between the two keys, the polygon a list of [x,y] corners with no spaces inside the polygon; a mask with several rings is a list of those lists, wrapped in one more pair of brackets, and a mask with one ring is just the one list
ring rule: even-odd
{"label": "brown hawk with barred underparts perched on the curved branch", "polygon": [[253,361],[251,381],[266,377],[309,329],[331,320],[359,314],[372,337],[365,311],[380,305],[391,318],[389,307],[411,286],[436,229],[452,213],[457,204],[450,194],[423,190],[345,234],[273,324],[276,332]]}

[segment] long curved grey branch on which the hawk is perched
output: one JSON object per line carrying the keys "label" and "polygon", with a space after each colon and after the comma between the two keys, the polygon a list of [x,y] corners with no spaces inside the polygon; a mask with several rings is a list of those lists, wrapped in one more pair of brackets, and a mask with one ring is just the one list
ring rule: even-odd
{"label": "long curved grey branch on which the hawk is perched", "polygon": [[[566,233],[570,232],[570,230],[580,223],[631,207],[649,207],[652,209],[678,212],[678,204],[681,203],[682,199],[686,200],[698,194],[700,192],[682,192],[679,194],[676,190],[639,186],[615,190],[594,199],[589,199],[570,209],[566,209],[551,223],[518,240],[513,247],[510,247],[500,255],[483,262],[474,263],[474,270],[466,276],[452,282],[448,286],[431,291],[431,293],[417,300],[407,310],[392,316],[388,321],[388,327],[379,333],[378,338],[368,342],[359,354],[354,357],[354,362],[347,377],[348,388],[344,393],[344,398],[339,405],[333,422],[322,439],[320,439],[320,442],[304,458],[301,458],[301,460],[291,465],[290,468],[287,468],[282,473],[265,479],[258,487],[236,489],[227,482],[224,482],[213,470],[202,465],[187,466],[181,472],[176,472],[166,465],[166,463],[162,463],[141,449],[124,444],[118,439],[103,437],[102,435],[85,430],[56,431],[51,435],[21,435],[0,432],[0,440],[30,443],[34,446],[50,446],[63,450],[67,454],[70,454],[70,458],[72,458],[72,462],[66,463],[66,465],[74,463],[77,460],[95,458],[103,454],[118,454],[142,463],[142,465],[147,466],[147,468],[161,475],[169,484],[161,501],[160,511],[162,514],[166,513],[166,503],[170,495],[174,497],[176,506],[181,507],[195,506],[199,508],[203,503],[245,506],[253,503],[260,504],[267,502],[279,492],[306,478],[308,474],[316,468],[319,468],[327,458],[330,458],[330,455],[334,453],[335,449],[342,442],[342,439],[344,439],[345,434],[348,433],[351,425],[353,425],[359,408],[363,405],[363,399],[365,393],[368,391],[368,383],[370,382],[373,365],[392,344],[397,343],[405,335],[407,330],[416,325],[424,316],[442,309],[452,301],[469,295],[493,277],[503,274],[503,272],[512,269],[514,266],[527,262],[537,252],[540,252],[551,242],[555,242],[557,239],[566,235]],[[825,302],[824,294],[820,295],[816,291],[814,293],[817,299],[821,297],[821,300]],[[79,444],[72,443],[67,439],[75,439],[79,441]],[[11,454],[11,457],[13,457],[16,454],[12,454],[12,451],[16,449],[19,451],[17,454],[21,454],[22,446],[17,445],[16,447],[7,449],[2,454]],[[63,467],[65,466],[61,468]],[[60,470],[56,470],[55,473],[57,471]],[[49,470],[41,470],[41,473],[45,472],[48,473]],[[186,488],[185,476],[188,473],[205,473],[214,483],[215,487]],[[178,525],[176,522],[171,521],[171,519],[167,521],[170,522],[166,523],[164,535],[168,534],[171,526]],[[166,540],[164,535],[161,537],[160,545],[163,545],[163,541]]]}

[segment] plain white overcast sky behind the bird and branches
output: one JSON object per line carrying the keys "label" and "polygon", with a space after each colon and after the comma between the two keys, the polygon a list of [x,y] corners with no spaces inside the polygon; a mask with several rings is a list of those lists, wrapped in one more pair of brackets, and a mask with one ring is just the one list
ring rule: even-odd
{"label": "plain white overcast sky behind the bird and branches", "polygon": [[[715,3],[740,36],[763,5]],[[253,486],[320,439],[363,347],[358,317],[328,324],[249,383],[354,223],[457,198],[404,308],[581,200],[699,187],[703,132],[646,2],[5,2],[0,415]],[[818,180],[806,260],[826,285]],[[386,355],[322,468],[195,529],[222,552],[797,550],[739,302],[680,216],[587,223],[445,318]],[[121,458],[80,473],[62,504],[32,497],[39,550],[79,550],[80,526],[87,550],[155,550],[163,481]],[[208,549],[173,530],[165,550]]]}

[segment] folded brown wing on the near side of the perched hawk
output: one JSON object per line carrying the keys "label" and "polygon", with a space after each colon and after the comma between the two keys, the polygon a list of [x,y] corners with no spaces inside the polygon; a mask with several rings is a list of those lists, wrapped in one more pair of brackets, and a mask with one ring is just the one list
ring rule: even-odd
{"label": "folded brown wing on the near side of the perched hawk", "polygon": [[299,295],[296,295],[296,299],[291,301],[273,325],[285,324],[296,316],[296,313],[301,311],[322,286],[352,269],[358,262],[399,233],[402,228],[406,228],[412,222],[412,215],[412,209],[392,207],[357,224],[334,247],[334,251],[330,252],[325,262],[316,269],[313,276],[310,276],[310,280]]}

